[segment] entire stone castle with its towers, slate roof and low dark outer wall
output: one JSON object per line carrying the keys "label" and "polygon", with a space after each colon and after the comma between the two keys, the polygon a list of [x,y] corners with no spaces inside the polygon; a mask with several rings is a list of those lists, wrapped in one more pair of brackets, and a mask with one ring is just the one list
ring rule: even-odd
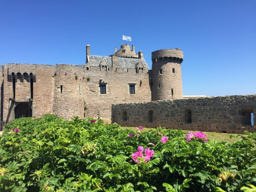
{"label": "entire stone castle with its towers, slate roof and low dark outer wall", "polygon": [[[255,95],[184,99],[182,61],[179,48],[157,50],[152,52],[150,70],[143,52],[136,54],[134,45],[131,49],[124,44],[109,56],[90,55],[87,45],[85,65],[4,64],[1,121],[53,113],[65,119],[112,119],[126,126],[216,132],[256,128],[249,120],[253,114],[256,119]],[[229,102],[241,105],[227,109]]]}

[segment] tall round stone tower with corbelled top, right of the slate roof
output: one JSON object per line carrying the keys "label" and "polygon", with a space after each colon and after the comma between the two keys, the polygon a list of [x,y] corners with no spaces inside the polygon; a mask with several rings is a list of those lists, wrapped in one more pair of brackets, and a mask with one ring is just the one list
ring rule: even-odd
{"label": "tall round stone tower with corbelled top, right of the slate roof", "polygon": [[179,48],[152,52],[152,101],[183,98],[182,61]]}

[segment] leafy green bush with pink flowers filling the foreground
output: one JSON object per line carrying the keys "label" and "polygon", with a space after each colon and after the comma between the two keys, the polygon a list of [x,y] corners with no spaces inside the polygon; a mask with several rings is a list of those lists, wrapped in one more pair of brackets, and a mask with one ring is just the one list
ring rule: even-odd
{"label": "leafy green bush with pink flowers filling the foreground", "polygon": [[0,191],[203,192],[256,185],[256,133],[236,135],[240,141],[233,144],[190,133],[193,142],[187,142],[181,130],[136,136],[139,130],[90,120],[44,115],[6,123]]}

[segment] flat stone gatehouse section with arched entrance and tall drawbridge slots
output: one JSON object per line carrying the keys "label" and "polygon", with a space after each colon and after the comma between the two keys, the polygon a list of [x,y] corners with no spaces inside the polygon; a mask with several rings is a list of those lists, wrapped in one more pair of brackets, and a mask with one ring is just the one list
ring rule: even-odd
{"label": "flat stone gatehouse section with arched entrance and tall drawbridge slots", "polygon": [[[3,121],[14,119],[15,107],[22,102],[30,105],[32,109],[32,116],[52,113],[55,66],[35,64],[5,64],[3,69],[4,94],[3,99],[1,100],[1,105],[3,106]],[[15,102],[12,73],[16,75]],[[31,99],[30,82],[28,82],[30,79],[24,79],[24,76],[26,77],[26,74],[29,75],[30,73],[35,75],[35,82],[33,82],[33,102],[29,100]],[[23,77],[21,77],[21,75]]]}

